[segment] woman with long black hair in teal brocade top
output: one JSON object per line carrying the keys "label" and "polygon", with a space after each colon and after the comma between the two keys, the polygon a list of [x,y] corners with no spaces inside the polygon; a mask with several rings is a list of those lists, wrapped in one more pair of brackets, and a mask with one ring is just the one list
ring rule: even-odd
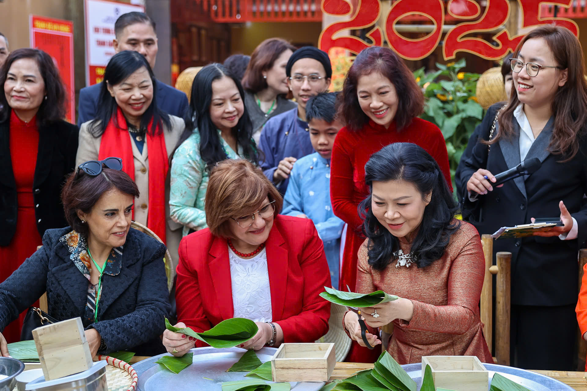
{"label": "woman with long black hair in teal brocade top", "polygon": [[195,76],[186,123],[194,131],[171,162],[170,214],[184,225],[184,236],[207,227],[204,198],[210,168],[227,158],[258,162],[243,97],[240,82],[221,64],[207,65]]}

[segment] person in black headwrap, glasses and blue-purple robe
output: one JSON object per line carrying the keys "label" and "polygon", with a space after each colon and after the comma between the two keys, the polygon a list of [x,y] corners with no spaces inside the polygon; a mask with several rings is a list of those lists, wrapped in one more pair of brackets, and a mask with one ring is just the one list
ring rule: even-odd
{"label": "person in black headwrap, glasses and blue-purple robe", "polygon": [[261,168],[281,194],[285,194],[295,161],[314,151],[306,122],[306,103],[312,96],[328,90],[332,66],[326,52],[304,46],[289,57],[285,74],[298,107],[267,121],[259,141],[259,148],[265,154]]}

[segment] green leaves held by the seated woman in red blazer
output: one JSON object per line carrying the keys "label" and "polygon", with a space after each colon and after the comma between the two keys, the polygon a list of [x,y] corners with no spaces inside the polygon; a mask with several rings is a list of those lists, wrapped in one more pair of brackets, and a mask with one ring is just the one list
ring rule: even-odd
{"label": "green leaves held by the seated woman in red blazer", "polygon": [[193,336],[213,348],[232,348],[253,338],[259,328],[251,319],[231,318],[215,325],[208,331],[195,332],[189,327],[178,328],[165,318],[165,327],[173,332]]}

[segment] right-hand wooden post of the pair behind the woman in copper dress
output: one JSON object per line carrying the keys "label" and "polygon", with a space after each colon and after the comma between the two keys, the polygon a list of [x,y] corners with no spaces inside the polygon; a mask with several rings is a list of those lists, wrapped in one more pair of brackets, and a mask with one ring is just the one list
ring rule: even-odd
{"label": "right-hand wooden post of the pair behind the woman in copper dress", "polygon": [[495,285],[495,358],[499,365],[510,365],[510,299],[512,253],[497,253]]}

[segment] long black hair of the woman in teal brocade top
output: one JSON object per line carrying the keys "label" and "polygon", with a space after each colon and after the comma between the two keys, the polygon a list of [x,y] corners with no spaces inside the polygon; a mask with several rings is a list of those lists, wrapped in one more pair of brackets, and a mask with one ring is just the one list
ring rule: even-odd
{"label": "long black hair of the woman in teal brocade top", "polygon": [[242,147],[244,157],[254,164],[258,164],[257,145],[252,139],[253,124],[244,103],[245,92],[242,89],[241,82],[222,64],[208,64],[195,75],[191,85],[190,108],[185,121],[185,129],[193,131],[198,128],[198,132],[200,132],[200,156],[206,162],[208,170],[212,169],[218,162],[228,159],[228,155],[222,148],[218,129],[210,118],[212,82],[220,80],[222,77],[230,77],[234,81],[243,100],[244,112],[237,125],[232,128],[232,135],[237,139],[237,146]]}

